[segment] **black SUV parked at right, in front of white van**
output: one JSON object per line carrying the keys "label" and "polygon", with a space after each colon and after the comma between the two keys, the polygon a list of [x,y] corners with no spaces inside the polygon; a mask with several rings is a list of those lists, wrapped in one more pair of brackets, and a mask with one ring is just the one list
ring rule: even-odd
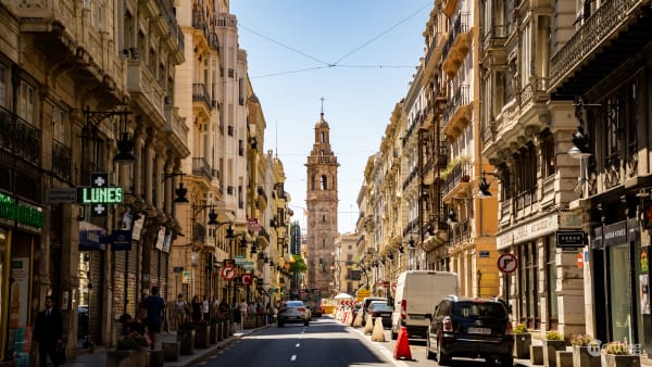
{"label": "black SUV parked at right, in front of white van", "polygon": [[498,299],[467,299],[449,295],[436,307],[430,320],[426,353],[440,366],[451,357],[486,358],[512,367],[514,336],[510,312]]}

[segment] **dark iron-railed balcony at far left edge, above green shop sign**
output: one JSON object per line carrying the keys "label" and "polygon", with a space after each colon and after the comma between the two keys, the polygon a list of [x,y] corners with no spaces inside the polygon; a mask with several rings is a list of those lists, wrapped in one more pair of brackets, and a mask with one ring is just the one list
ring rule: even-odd
{"label": "dark iron-railed balcony at far left edge, above green shop sign", "polygon": [[40,130],[0,106],[0,150],[40,166]]}

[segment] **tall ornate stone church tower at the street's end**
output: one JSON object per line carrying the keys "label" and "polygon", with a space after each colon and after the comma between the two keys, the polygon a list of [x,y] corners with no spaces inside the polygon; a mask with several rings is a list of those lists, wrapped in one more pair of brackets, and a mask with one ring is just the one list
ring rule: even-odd
{"label": "tall ornate stone church tower at the street's end", "polygon": [[337,231],[337,156],[330,149],[330,128],[324,112],[315,124],[315,141],[308,156],[308,287],[333,295],[334,255]]}

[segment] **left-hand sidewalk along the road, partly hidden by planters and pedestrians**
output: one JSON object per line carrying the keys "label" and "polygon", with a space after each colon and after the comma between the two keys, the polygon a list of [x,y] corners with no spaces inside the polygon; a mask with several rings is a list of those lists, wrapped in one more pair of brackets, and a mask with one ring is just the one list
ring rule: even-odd
{"label": "left-hand sidewalk along the road, partly hidden by planters and pedestrians", "polygon": [[[256,329],[244,329],[244,330],[236,330],[231,337],[217,342],[217,344],[211,344],[208,349],[195,349],[195,353],[190,355],[179,355],[178,360],[174,362],[165,362],[163,364],[164,367],[184,367],[189,366],[193,363],[197,363],[202,357],[214,353],[220,349],[224,349],[234,341],[249,336],[252,332],[264,329],[266,327],[261,327]],[[161,350],[161,345],[163,342],[176,341],[176,331],[171,331],[167,333],[159,334],[159,340],[156,341],[156,350]],[[66,360],[63,364],[63,367],[105,367],[106,366],[106,349],[103,346],[96,346],[93,353],[80,354],[74,359]]]}

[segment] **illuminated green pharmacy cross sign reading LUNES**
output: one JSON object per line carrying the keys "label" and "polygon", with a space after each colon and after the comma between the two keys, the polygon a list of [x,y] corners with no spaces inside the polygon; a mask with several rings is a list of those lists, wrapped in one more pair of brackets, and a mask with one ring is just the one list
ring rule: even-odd
{"label": "illuminated green pharmacy cross sign reading LUNES", "polygon": [[122,187],[108,186],[109,174],[90,174],[90,187],[77,188],[77,202],[91,206],[91,216],[105,217],[104,204],[120,204],[123,202]]}

